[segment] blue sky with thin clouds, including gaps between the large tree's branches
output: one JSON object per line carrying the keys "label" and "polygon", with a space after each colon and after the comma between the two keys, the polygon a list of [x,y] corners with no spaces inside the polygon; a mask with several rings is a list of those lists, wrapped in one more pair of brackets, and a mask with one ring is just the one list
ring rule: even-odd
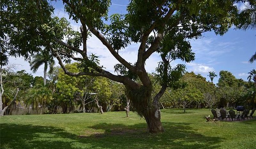
{"label": "blue sky with thin clouds, including gaps between the large tree's branches", "polygon": [[[55,15],[68,18],[64,12],[64,7],[61,1],[51,1],[55,7]],[[113,0],[109,8],[109,15],[113,13],[126,13],[127,0]],[[240,6],[241,9],[243,9]],[[78,29],[80,24],[76,24],[72,19],[69,19],[74,29]],[[202,39],[190,41],[192,50],[196,53],[196,60],[191,63],[186,63],[187,71],[200,73],[209,80],[208,71],[214,71],[219,77],[221,70],[232,72],[236,78],[247,79],[247,73],[255,69],[256,62],[248,63],[249,58],[256,51],[256,30],[235,30],[230,28],[223,36],[215,35],[213,32],[204,33]],[[100,56],[100,63],[106,67],[108,71],[113,72],[113,65],[117,63],[114,57],[108,52],[107,48],[100,43],[96,37],[89,39],[88,49],[90,53],[95,53]],[[133,43],[129,47],[120,52],[127,61],[134,63],[136,61],[138,44]],[[146,62],[148,72],[154,72],[157,62],[160,58],[157,54],[153,54]],[[29,69],[29,64],[24,62],[22,58],[10,58],[10,63],[20,64],[17,70],[25,69],[32,73]],[[176,65],[179,61],[175,61],[172,65]],[[40,67],[35,76],[43,76],[43,67]],[[217,83],[218,77],[214,79]]]}

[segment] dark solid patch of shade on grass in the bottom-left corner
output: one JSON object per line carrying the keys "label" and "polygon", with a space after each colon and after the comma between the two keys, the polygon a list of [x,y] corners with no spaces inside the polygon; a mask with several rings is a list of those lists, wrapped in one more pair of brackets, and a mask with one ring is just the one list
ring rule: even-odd
{"label": "dark solid patch of shade on grass in the bottom-left corner", "polygon": [[1,148],[72,148],[61,138],[76,136],[55,127],[1,123]]}

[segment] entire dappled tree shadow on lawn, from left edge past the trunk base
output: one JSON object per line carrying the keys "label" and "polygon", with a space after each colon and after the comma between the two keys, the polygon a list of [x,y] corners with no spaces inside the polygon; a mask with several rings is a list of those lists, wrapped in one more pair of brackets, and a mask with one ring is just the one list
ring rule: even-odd
{"label": "entire dappled tree shadow on lawn, from left edge past the trunk base", "polygon": [[[189,123],[163,123],[164,133],[149,134],[146,123],[100,123],[94,132],[79,136],[49,126],[1,124],[1,148],[215,148],[222,138],[204,136]],[[102,131],[103,130],[103,131]],[[86,132],[87,133],[87,132]]]}

